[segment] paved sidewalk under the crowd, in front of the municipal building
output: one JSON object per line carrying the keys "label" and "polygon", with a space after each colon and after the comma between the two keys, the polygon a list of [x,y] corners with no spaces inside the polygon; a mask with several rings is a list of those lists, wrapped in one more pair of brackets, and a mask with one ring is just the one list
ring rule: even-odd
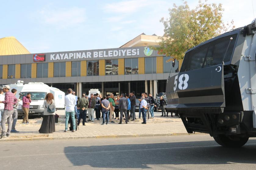
{"label": "paved sidewalk under the crowd, in front of the municipal building", "polygon": [[[16,130],[20,133],[11,133],[10,138],[3,138],[0,141],[13,140],[42,140],[42,139],[73,139],[73,138],[119,138],[119,137],[140,137],[140,136],[170,136],[187,134],[187,131],[178,117],[155,117],[141,124],[142,120],[130,121],[125,124],[116,123],[101,125],[102,119],[86,123],[86,126],[79,126],[76,132],[64,133],[64,118],[59,119],[60,123],[55,124],[55,132],[51,134],[40,134],[41,119],[31,119],[30,124],[22,124],[18,120]],[[70,124],[69,124],[70,126]]]}

